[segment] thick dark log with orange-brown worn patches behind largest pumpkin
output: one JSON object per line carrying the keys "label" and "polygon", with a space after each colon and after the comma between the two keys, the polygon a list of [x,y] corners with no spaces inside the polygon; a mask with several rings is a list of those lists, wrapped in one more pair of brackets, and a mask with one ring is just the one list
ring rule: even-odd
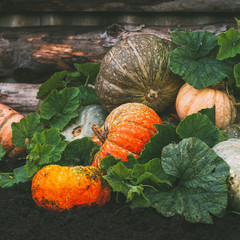
{"label": "thick dark log with orange-brown worn patches behind largest pumpkin", "polygon": [[[217,34],[225,31],[227,27],[225,24],[215,24],[187,29],[209,30]],[[75,71],[74,63],[100,62],[112,46],[131,35],[148,33],[170,39],[173,29],[119,24],[106,28],[62,26],[2,29],[0,79],[13,76],[17,82],[41,83],[54,72]]]}

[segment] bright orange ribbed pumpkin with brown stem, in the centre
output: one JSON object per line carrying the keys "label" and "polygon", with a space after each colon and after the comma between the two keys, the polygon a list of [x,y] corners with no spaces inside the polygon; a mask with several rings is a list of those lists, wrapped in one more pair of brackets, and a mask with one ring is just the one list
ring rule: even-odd
{"label": "bright orange ribbed pumpkin with brown stem, in the centre", "polygon": [[101,147],[92,165],[99,166],[102,158],[109,155],[121,161],[127,161],[130,153],[138,157],[150,137],[156,134],[154,124],[161,123],[156,112],[142,103],[125,103],[115,108],[102,128],[93,125],[92,140]]}

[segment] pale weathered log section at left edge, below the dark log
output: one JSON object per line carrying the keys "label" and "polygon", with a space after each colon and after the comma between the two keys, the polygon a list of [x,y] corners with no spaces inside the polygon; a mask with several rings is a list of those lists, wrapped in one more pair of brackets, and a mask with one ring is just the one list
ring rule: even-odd
{"label": "pale weathered log section at left edge, below the dark log", "polygon": [[5,104],[24,116],[37,111],[36,99],[40,84],[0,83],[0,103]]}

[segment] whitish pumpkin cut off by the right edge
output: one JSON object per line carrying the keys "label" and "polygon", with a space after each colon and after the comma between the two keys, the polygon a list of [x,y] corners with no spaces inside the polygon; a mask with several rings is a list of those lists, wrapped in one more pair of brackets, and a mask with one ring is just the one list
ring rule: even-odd
{"label": "whitish pumpkin cut off by the right edge", "polygon": [[240,139],[231,138],[213,147],[216,154],[230,167],[229,204],[240,210]]}

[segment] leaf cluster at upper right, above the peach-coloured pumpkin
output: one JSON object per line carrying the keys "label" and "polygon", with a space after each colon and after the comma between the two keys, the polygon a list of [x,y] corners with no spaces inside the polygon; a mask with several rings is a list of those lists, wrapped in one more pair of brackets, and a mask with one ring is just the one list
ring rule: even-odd
{"label": "leaf cluster at upper right, above the peach-coloured pumpkin", "polygon": [[171,37],[178,47],[170,54],[170,69],[196,89],[227,81],[238,96],[240,87],[240,24],[218,36],[208,31],[178,31]]}

